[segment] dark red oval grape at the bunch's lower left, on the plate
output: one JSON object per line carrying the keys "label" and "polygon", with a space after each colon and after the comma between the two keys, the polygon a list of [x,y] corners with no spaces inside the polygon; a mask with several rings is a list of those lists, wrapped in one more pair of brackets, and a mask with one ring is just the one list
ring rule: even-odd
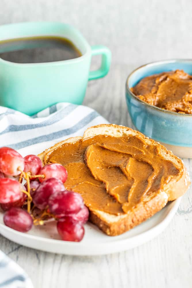
{"label": "dark red oval grape at the bunch's lower left, on the plate", "polygon": [[21,208],[12,207],[9,209],[5,212],[3,220],[6,226],[20,232],[27,232],[33,226],[31,215]]}

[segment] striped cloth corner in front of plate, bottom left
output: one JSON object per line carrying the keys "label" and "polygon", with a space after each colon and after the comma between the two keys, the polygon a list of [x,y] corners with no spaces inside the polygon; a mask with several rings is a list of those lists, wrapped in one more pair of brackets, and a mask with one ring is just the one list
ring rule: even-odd
{"label": "striped cloth corner in front of plate, bottom left", "polygon": [[0,251],[0,288],[33,288],[23,269]]}

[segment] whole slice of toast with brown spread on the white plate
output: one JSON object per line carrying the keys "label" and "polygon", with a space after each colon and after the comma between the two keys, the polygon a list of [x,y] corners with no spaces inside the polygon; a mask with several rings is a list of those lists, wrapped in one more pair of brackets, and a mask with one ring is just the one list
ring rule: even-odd
{"label": "whole slice of toast with brown spread on the white plate", "polygon": [[142,133],[100,124],[38,155],[65,166],[67,190],[82,195],[89,220],[110,236],[122,234],[183,195],[189,175],[178,157]]}

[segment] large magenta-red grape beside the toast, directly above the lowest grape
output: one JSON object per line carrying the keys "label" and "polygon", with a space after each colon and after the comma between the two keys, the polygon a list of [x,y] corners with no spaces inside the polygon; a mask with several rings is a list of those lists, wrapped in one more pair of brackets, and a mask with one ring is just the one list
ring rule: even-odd
{"label": "large magenta-red grape beside the toast, directly above the lowest grape", "polygon": [[78,213],[84,205],[81,195],[72,191],[54,193],[48,203],[50,212],[55,215]]}

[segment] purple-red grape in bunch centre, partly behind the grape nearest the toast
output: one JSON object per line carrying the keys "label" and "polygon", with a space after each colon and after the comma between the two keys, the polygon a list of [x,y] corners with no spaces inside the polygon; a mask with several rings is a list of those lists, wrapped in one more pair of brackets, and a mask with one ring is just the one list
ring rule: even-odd
{"label": "purple-red grape in bunch centre, partly behind the grape nearest the toast", "polygon": [[58,191],[64,191],[63,183],[56,178],[50,178],[39,185],[33,196],[33,203],[39,209],[45,209],[48,204],[48,199],[51,194]]}

